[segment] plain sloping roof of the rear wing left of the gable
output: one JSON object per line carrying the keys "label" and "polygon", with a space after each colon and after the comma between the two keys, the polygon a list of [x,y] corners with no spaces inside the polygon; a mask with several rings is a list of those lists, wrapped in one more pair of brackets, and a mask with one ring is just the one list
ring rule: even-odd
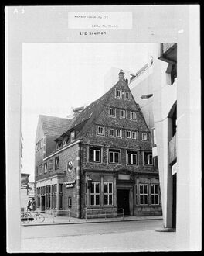
{"label": "plain sloping roof of the rear wing left of the gable", "polygon": [[51,136],[59,136],[69,129],[71,119],[56,116],[39,115],[44,133]]}

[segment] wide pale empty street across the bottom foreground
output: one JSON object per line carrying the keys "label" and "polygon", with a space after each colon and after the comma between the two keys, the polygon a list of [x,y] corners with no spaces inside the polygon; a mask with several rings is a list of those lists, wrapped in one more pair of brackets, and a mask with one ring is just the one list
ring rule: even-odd
{"label": "wide pale empty street across the bottom foreground", "polygon": [[176,251],[162,220],[22,227],[23,252]]}

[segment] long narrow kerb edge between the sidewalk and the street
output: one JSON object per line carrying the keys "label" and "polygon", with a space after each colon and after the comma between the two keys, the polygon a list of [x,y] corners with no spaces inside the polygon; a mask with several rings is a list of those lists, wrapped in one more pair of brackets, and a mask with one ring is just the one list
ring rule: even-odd
{"label": "long narrow kerb edge between the sidewalk and the street", "polygon": [[139,219],[139,220],[98,220],[98,221],[87,221],[87,222],[66,222],[66,223],[30,223],[30,224],[22,224],[23,227],[31,227],[31,226],[49,226],[49,225],[69,225],[69,224],[87,224],[87,223],[110,223],[110,222],[124,222],[124,221],[141,221],[141,220],[163,220],[163,218],[156,219]]}

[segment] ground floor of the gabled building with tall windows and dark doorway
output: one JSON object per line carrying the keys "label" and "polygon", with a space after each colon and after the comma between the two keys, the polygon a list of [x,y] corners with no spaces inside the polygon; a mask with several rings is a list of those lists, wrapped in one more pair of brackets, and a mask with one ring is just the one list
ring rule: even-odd
{"label": "ground floor of the gabled building with tall windows and dark doorway", "polygon": [[[65,180],[66,179],[66,180]],[[162,215],[158,174],[85,171],[83,177],[36,183],[37,209],[85,218],[101,214]]]}

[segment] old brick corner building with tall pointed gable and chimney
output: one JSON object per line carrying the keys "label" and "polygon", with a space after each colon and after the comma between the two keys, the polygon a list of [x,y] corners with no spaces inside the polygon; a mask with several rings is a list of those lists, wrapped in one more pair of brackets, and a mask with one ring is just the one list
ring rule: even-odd
{"label": "old brick corner building with tall pointed gable and chimney", "polygon": [[37,206],[70,209],[76,217],[89,209],[162,214],[151,133],[124,72],[105,95],[80,110],[56,138],[53,154],[43,159],[46,171],[36,177]]}

